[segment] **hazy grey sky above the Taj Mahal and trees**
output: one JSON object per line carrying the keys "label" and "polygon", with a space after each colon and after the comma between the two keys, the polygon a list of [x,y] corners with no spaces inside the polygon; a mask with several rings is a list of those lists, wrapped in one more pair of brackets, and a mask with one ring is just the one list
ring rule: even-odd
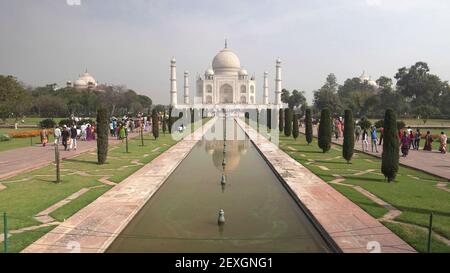
{"label": "hazy grey sky above the Taj Mahal and trees", "polygon": [[450,80],[450,1],[0,0],[0,74],[30,85],[64,85],[88,71],[169,102],[169,60],[195,75],[228,46],[257,80],[275,59],[283,87],[312,92],[335,73],[342,83],[363,70],[372,78],[425,61]]}

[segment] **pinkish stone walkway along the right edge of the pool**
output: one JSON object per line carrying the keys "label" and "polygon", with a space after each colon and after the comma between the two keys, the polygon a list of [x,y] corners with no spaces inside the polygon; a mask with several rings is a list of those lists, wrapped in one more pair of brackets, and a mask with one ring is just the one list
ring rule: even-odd
{"label": "pinkish stone walkway along the right edge of the pool", "polygon": [[274,171],[298,197],[307,214],[320,225],[343,252],[369,252],[376,241],[383,253],[416,252],[396,234],[327,182],[314,175],[276,145],[236,119]]}

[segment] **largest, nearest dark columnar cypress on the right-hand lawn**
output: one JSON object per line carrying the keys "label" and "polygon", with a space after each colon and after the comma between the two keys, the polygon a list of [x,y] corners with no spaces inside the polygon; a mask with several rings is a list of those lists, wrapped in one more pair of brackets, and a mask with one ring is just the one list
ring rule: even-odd
{"label": "largest, nearest dark columnar cypress on the right-hand lawn", "polygon": [[391,109],[387,109],[384,115],[384,141],[381,160],[381,172],[388,182],[393,181],[398,172],[399,143],[397,118]]}

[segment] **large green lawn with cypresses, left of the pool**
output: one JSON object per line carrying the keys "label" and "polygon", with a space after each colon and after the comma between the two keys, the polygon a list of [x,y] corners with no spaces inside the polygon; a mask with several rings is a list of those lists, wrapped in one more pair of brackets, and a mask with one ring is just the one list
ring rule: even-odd
{"label": "large green lawn with cypresses, left of the pool", "polygon": [[[196,128],[199,126],[200,123],[197,123]],[[100,183],[99,178],[107,176],[110,181],[120,183],[175,143],[176,140],[168,133],[163,134],[161,132],[157,140],[150,134],[146,134],[144,146],[141,146],[139,137],[129,140],[129,153],[125,151],[125,143],[110,146],[108,161],[104,165],[97,164],[95,152],[84,153],[75,158],[64,160],[61,163],[62,181],[59,184],[55,183],[55,167],[53,164],[2,180],[1,183],[6,186],[6,189],[0,191],[0,212],[8,213],[9,230],[39,225],[40,223],[34,219],[37,213],[82,188],[103,186],[89,190],[51,214],[55,219],[63,221],[93,202],[110,188]],[[136,160],[141,165],[132,163]],[[89,176],[80,175],[79,172],[87,173]],[[0,233],[3,233],[3,225],[0,226]],[[23,235],[26,237],[23,241],[31,241],[34,234],[27,232]],[[11,241],[10,244],[14,244],[14,241]],[[26,245],[24,244],[24,246]]]}

